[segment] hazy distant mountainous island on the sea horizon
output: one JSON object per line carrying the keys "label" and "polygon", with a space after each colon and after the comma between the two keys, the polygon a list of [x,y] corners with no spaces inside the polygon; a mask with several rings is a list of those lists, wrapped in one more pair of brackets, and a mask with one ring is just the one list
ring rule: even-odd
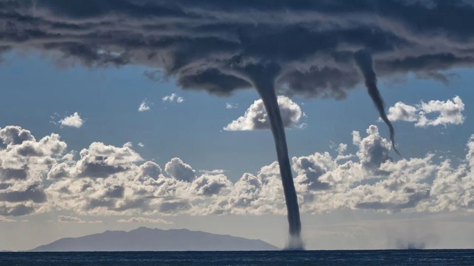
{"label": "hazy distant mountainous island on the sea horizon", "polygon": [[279,250],[259,239],[213,234],[187,229],[140,227],[125,231],[105,231],[81,237],[67,237],[28,251],[238,251]]}

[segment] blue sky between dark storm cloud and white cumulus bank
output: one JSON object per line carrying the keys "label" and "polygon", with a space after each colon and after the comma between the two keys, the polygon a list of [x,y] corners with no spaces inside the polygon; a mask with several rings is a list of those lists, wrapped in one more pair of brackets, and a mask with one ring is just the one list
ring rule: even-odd
{"label": "blue sky between dark storm cloud and white cumulus bank", "polygon": [[[177,88],[174,81],[155,82],[145,77],[143,66],[88,68],[60,66],[39,54],[10,53],[0,65],[2,97],[0,127],[18,125],[34,135],[59,133],[69,150],[80,151],[91,142],[121,146],[131,141],[146,160],[160,166],[179,157],[197,169],[225,169],[236,180],[244,172],[255,172],[275,160],[274,144],[269,130],[226,132],[232,120],[243,115],[258,99],[252,90],[237,91],[231,97],[215,97],[199,91]],[[465,155],[465,142],[471,135],[470,117],[474,113],[473,70],[456,69],[458,76],[450,84],[417,79],[413,75],[397,80],[380,80],[379,87],[387,108],[397,101],[417,104],[421,100],[448,100],[458,95],[465,103],[462,125],[415,128],[413,123],[395,122],[395,139],[403,158],[422,157],[427,152],[451,151],[455,157]],[[163,102],[172,93],[183,97],[183,103]],[[151,109],[138,112],[147,99]],[[287,130],[290,158],[330,151],[330,141],[351,145],[353,130],[364,132],[375,124],[384,137],[388,130],[377,122],[378,114],[365,88],[356,87],[345,100],[293,98],[307,118],[303,130]],[[226,109],[227,102],[237,108]],[[79,112],[83,126],[61,128],[50,123]],[[57,113],[59,116],[51,119]],[[137,147],[142,142],[145,147]],[[332,151],[335,153],[334,151]],[[391,154],[397,158],[395,153]]]}

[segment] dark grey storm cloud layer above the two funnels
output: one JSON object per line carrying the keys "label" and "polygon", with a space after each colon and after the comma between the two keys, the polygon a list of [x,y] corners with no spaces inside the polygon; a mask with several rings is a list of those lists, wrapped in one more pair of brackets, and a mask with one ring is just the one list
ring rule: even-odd
{"label": "dark grey storm cloud layer above the two funnels", "polygon": [[379,76],[439,73],[474,62],[474,5],[464,0],[0,1],[0,52],[35,49],[90,66],[164,69],[184,89],[226,96],[235,74],[276,64],[278,90],[344,98],[365,49]]}

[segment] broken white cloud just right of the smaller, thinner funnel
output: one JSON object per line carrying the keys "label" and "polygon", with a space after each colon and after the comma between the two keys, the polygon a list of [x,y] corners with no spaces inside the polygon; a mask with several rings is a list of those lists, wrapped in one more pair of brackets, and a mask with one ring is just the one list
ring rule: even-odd
{"label": "broken white cloud just right of the smaller, thinner funnel", "polygon": [[430,100],[416,105],[408,105],[401,101],[389,108],[388,118],[391,121],[407,121],[415,123],[415,127],[447,126],[463,124],[464,103],[459,96],[452,100]]}

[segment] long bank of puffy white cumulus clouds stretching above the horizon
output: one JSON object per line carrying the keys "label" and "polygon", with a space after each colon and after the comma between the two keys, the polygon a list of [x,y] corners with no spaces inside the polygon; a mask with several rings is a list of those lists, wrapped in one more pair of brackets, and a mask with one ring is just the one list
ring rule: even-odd
{"label": "long bank of puffy white cumulus clouds stretching above the horizon", "polygon": [[[435,163],[435,154],[391,158],[392,146],[371,125],[352,132],[337,151],[291,158],[303,213],[337,209],[380,212],[473,211],[474,135],[466,159]],[[120,222],[165,223],[143,215],[285,214],[279,166],[273,162],[231,182],[223,170],[196,171],[180,158],[164,170],[132,146],[93,142],[79,156],[59,135],[36,140],[28,130],[0,130],[0,217],[68,211],[60,222],[89,223],[85,215],[126,215]],[[201,172],[201,173],[199,173]],[[46,181],[47,180],[47,181]],[[152,220],[147,220],[152,219]]]}

